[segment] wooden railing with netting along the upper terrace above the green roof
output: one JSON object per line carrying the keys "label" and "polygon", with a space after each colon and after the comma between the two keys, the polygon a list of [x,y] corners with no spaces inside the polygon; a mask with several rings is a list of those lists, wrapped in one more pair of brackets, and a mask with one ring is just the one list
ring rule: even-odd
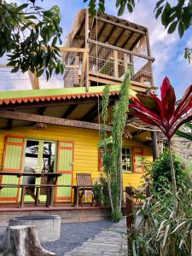
{"label": "wooden railing with netting along the upper terrace above the green roof", "polygon": [[[64,74],[53,75],[49,81],[45,74],[37,78],[31,72],[11,73],[13,67],[0,59],[0,90],[32,90],[86,87],[92,84],[120,84],[131,67],[132,81],[137,90],[151,87],[153,58],[109,44],[89,40],[89,49],[61,47]],[[133,85],[134,85],[133,83]],[[134,86],[133,86],[134,87]],[[134,88],[133,88],[134,89]]]}

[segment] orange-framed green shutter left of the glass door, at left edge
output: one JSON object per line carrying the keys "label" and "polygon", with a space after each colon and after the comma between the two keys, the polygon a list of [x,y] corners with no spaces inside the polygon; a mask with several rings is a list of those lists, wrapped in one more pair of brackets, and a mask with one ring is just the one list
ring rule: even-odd
{"label": "orange-framed green shutter left of the glass door, at left edge", "polygon": [[[22,155],[24,148],[24,137],[5,137],[3,152],[3,172],[22,172]],[[20,184],[20,178],[16,176],[3,176],[1,183]],[[17,188],[0,189],[0,201],[19,201],[19,190]]]}

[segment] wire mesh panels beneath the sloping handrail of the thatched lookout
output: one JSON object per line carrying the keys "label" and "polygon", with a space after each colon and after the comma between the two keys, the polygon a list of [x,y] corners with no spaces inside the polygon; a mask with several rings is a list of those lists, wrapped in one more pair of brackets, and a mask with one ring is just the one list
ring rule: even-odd
{"label": "wire mesh panels beneath the sloping handrail of the thatched lookout", "polygon": [[90,40],[90,72],[105,77],[124,79],[129,68],[132,69],[132,80],[150,83],[152,73],[146,58],[128,54],[124,50],[114,49],[108,44],[97,44]]}

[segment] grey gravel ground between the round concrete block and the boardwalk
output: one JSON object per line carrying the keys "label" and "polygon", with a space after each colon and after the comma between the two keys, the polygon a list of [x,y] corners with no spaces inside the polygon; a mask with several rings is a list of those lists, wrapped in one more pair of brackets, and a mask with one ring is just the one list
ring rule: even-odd
{"label": "grey gravel ground between the round concrete block and the boardwalk", "polygon": [[[44,243],[42,246],[56,253],[57,256],[63,256],[68,251],[73,250],[73,248],[81,246],[84,241],[96,236],[103,229],[109,228],[112,224],[113,222],[111,221],[61,224],[60,240]],[[0,241],[5,229],[5,227],[0,226]]]}

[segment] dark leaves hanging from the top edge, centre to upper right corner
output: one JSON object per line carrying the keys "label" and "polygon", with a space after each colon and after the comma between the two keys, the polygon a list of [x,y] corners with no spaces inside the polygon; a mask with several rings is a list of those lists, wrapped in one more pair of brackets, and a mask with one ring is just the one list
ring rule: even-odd
{"label": "dark leaves hanging from the top edge, centre to upper right corner", "polygon": [[[99,13],[105,11],[105,0],[84,0],[89,1],[90,14],[96,15],[96,9]],[[138,0],[139,2],[139,0]],[[156,6],[154,9],[155,18],[161,17],[161,22],[165,28],[168,28],[167,32],[175,32],[176,28],[180,38],[183,37],[184,32],[191,26],[192,23],[192,1],[177,0],[174,3],[166,0],[156,0]],[[129,13],[133,12],[136,6],[135,0],[115,0],[116,8],[118,9],[118,15],[123,15],[125,9]]]}

